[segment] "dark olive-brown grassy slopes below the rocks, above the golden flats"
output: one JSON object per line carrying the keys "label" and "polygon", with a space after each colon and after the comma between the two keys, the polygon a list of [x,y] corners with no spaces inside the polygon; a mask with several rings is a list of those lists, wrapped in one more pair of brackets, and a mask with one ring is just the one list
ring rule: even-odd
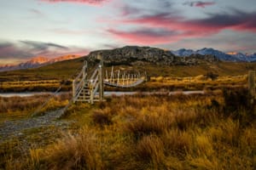
{"label": "dark olive-brown grassy slopes below the rocks, above the golden flats", "polygon": [[[0,82],[68,80],[73,79],[81,70],[84,58],[65,60],[40,68],[20,71],[0,72]],[[149,77],[196,77],[214,72],[219,76],[245,75],[250,70],[256,70],[256,63],[218,62],[202,65],[172,65],[157,66],[149,63],[144,65],[115,65],[114,69],[134,69],[146,71]],[[111,70],[111,65],[107,68]]]}

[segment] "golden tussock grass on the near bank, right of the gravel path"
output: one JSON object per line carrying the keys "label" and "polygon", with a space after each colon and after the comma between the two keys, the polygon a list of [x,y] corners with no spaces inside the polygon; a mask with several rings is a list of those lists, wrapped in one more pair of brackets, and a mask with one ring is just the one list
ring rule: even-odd
{"label": "golden tussock grass on the near bank, right of the gravel path", "polygon": [[193,95],[113,96],[96,105],[78,103],[62,117],[73,124],[61,139],[24,155],[5,145],[0,166],[255,169],[255,114],[255,101],[245,88]]}

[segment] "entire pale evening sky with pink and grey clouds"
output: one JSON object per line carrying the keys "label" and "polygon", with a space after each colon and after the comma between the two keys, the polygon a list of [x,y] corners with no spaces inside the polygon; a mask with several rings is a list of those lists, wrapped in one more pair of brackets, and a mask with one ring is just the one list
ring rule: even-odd
{"label": "entire pale evening sky with pink and grey clouds", "polygon": [[256,53],[255,0],[0,0],[0,65],[126,45]]}

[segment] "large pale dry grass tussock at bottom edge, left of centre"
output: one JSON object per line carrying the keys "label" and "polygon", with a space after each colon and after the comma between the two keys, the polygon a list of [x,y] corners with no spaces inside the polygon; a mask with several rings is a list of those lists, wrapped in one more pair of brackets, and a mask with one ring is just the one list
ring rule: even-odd
{"label": "large pale dry grass tussock at bottom edge, left of centre", "polygon": [[96,134],[87,129],[49,146],[42,159],[48,169],[102,169],[101,160]]}

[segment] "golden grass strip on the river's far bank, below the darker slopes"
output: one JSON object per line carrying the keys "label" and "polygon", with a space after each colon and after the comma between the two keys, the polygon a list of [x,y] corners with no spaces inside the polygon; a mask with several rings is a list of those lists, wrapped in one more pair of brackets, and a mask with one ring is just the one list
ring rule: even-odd
{"label": "golden grass strip on the river's far bank, below the darker slopes", "polygon": [[[219,88],[237,88],[247,85],[247,75],[236,77],[216,77],[209,79],[203,75],[197,77],[150,77],[148,82],[132,88],[113,88],[105,86],[106,91],[196,91],[215,90]],[[18,92],[55,92],[61,87],[61,92],[72,91],[72,80],[44,80],[0,82],[0,93]]]}

